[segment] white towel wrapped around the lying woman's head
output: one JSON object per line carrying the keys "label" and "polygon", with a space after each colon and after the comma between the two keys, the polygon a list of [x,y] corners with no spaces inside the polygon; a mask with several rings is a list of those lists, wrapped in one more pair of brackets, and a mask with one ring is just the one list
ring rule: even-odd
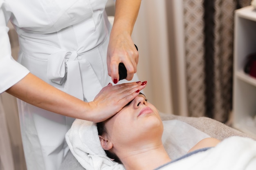
{"label": "white towel wrapped around the lying woman's head", "polygon": [[122,164],[107,157],[95,123],[76,119],[65,137],[70,151],[86,170],[125,170]]}

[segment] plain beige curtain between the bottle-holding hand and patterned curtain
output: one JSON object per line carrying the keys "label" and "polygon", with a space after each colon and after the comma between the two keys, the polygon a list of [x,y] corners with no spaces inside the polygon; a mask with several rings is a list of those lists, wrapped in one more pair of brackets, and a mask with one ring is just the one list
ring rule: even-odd
{"label": "plain beige curtain between the bottle-holding hand and patterned curtain", "polygon": [[182,0],[142,0],[132,38],[139,48],[138,75],[158,110],[188,115]]}

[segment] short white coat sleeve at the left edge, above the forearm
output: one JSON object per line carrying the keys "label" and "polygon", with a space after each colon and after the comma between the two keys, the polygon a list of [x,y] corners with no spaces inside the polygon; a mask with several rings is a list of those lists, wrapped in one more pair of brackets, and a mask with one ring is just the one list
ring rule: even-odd
{"label": "short white coat sleeve at the left edge, above the forearm", "polygon": [[4,13],[4,1],[0,0],[0,93],[19,82],[28,73],[28,69],[16,62],[11,56],[7,21],[9,16]]}

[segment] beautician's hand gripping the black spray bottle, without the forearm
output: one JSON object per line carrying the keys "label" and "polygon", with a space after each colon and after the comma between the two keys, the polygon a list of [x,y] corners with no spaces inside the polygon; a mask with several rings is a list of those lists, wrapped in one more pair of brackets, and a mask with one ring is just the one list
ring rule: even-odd
{"label": "beautician's hand gripping the black spray bottle, without the forearm", "polygon": [[112,32],[108,45],[107,64],[108,75],[112,81],[117,83],[119,80],[118,66],[124,63],[127,69],[127,80],[131,80],[137,72],[139,53],[128,33]]}

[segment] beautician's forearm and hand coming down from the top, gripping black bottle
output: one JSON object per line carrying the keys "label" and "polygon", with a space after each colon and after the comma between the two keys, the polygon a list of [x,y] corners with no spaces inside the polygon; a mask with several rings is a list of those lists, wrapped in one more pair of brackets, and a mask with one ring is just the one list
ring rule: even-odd
{"label": "beautician's forearm and hand coming down from the top, gripping black bottle", "polygon": [[[131,39],[133,26],[139,13],[141,0],[116,0],[115,19],[108,45],[108,75],[116,83],[119,79],[118,65],[124,63],[127,69],[127,80],[137,72],[139,53]],[[116,80],[115,80],[116,79]]]}

